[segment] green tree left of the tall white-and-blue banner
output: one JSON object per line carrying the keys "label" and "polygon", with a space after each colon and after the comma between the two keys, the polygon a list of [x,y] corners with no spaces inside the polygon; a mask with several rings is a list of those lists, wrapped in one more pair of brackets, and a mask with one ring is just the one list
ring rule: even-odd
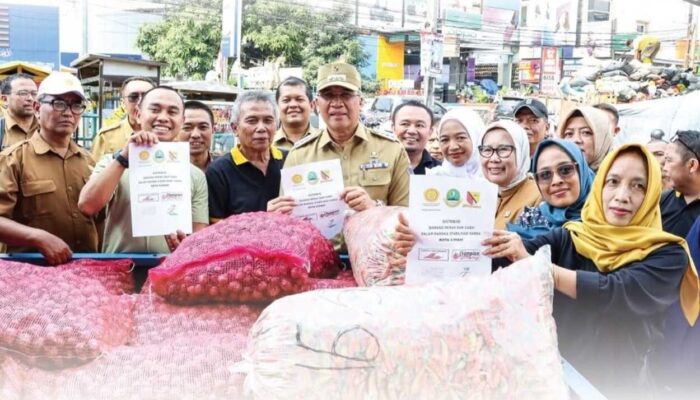
{"label": "green tree left of the tall white-and-blue banner", "polygon": [[167,63],[165,75],[203,79],[221,44],[221,3],[174,4],[163,21],[139,29],[136,45],[150,58]]}

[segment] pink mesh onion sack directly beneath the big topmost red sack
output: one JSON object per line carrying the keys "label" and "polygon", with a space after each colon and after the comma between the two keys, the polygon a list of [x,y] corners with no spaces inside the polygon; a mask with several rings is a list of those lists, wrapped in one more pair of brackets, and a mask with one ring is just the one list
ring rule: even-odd
{"label": "pink mesh onion sack directly beneath the big topmost red sack", "polygon": [[136,296],[134,329],[131,345],[158,344],[189,340],[208,335],[247,336],[261,306],[247,304],[212,304],[177,306],[156,294]]}

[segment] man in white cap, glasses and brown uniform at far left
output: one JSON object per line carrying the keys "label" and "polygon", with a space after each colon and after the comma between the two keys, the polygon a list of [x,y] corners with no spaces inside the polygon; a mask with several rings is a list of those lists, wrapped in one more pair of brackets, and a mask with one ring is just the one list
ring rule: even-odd
{"label": "man in white cap, glasses and brown uniform at far left", "polygon": [[93,218],[78,209],[78,195],[95,162],[71,140],[85,111],[76,77],[51,73],[39,86],[34,110],[40,128],[0,153],[0,241],[9,252],[41,252],[49,264],[72,251],[96,252]]}

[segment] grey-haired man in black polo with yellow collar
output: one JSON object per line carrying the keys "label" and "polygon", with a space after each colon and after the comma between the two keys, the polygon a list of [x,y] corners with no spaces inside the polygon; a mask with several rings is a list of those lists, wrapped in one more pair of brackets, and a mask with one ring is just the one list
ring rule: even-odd
{"label": "grey-haired man in black polo with yellow collar", "polygon": [[247,91],[231,111],[231,128],[238,144],[207,169],[209,221],[230,215],[265,211],[277,197],[286,151],[272,145],[278,110],[271,95]]}

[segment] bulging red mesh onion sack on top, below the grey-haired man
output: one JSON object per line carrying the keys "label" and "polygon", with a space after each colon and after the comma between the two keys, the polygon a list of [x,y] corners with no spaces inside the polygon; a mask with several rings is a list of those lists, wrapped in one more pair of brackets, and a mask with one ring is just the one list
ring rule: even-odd
{"label": "bulging red mesh onion sack on top, below the grey-haired man", "polygon": [[153,291],[176,304],[269,302],[333,278],[340,260],[311,223],[255,212],[234,215],[185,239],[149,271]]}

